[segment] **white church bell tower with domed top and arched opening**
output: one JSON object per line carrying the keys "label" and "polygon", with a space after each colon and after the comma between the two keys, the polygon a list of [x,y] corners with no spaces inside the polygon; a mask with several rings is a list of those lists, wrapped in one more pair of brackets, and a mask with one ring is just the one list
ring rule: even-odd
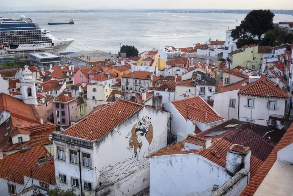
{"label": "white church bell tower with domed top and arched opening", "polygon": [[22,72],[22,76],[20,79],[21,83],[21,94],[22,100],[26,104],[33,104],[37,107],[37,96],[36,96],[36,88],[35,88],[35,78],[33,78],[32,72],[28,70],[28,66],[25,65],[25,70]]}

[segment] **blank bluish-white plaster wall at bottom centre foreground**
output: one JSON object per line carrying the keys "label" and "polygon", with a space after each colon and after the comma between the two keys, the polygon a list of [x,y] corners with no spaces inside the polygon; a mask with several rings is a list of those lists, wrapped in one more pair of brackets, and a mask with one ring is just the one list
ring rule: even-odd
{"label": "blank bluish-white plaster wall at bottom centre foreground", "polygon": [[151,196],[209,196],[230,178],[225,168],[196,154],[158,156],[149,161]]}

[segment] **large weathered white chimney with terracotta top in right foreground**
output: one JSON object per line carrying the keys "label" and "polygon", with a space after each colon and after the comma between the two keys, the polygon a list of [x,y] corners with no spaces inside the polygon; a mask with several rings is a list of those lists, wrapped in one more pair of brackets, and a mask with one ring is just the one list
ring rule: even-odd
{"label": "large weathered white chimney with terracotta top in right foreground", "polygon": [[226,156],[226,172],[234,176],[242,168],[249,171],[251,150],[243,145],[233,144]]}

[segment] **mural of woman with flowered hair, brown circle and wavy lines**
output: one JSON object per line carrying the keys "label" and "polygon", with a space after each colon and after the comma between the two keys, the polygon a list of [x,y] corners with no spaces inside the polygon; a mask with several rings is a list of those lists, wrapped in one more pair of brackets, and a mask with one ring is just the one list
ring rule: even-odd
{"label": "mural of woman with flowered hair, brown circle and wavy lines", "polygon": [[115,182],[121,179],[119,176],[128,175],[137,168],[149,164],[147,155],[155,152],[155,148],[149,147],[153,135],[151,118],[148,116],[139,118],[131,131],[124,136],[129,141],[129,146],[126,146],[126,149],[131,153],[130,158],[113,166],[105,167],[101,171],[100,182],[102,184]]}

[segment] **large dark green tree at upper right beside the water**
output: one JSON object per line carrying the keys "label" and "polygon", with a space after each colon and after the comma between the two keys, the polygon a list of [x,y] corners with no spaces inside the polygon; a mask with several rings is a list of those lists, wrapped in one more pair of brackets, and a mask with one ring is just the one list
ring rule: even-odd
{"label": "large dark green tree at upper right beside the water", "polygon": [[243,43],[244,45],[247,45],[247,43],[253,43],[253,38],[255,36],[261,41],[261,35],[266,31],[273,29],[274,16],[275,14],[270,10],[259,9],[250,11],[245,19],[241,21],[240,26],[236,26],[236,30],[231,33],[233,40],[236,40],[237,47],[240,43]]}

